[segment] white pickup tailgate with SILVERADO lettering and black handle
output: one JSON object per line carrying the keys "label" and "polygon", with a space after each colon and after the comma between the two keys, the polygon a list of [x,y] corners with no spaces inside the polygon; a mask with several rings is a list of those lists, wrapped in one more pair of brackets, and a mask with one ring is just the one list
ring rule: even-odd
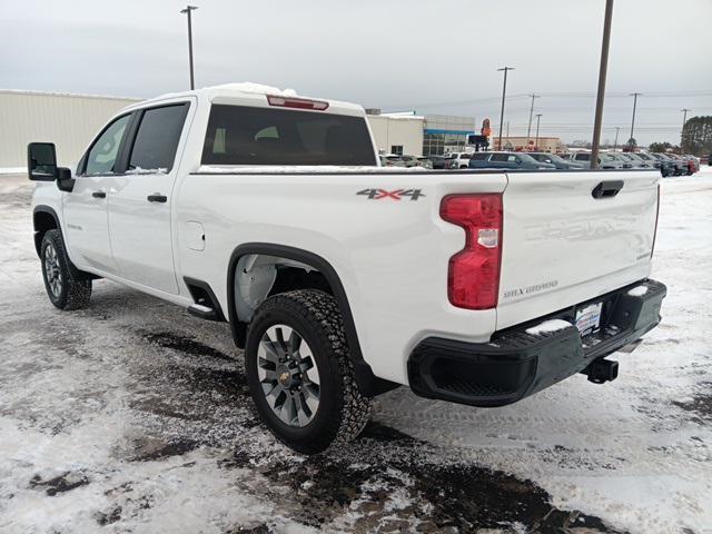
{"label": "white pickup tailgate with SILVERADO lettering and black handle", "polygon": [[[659,172],[526,172],[507,178],[497,329],[649,276]],[[605,196],[596,198],[596,192],[605,189]]]}

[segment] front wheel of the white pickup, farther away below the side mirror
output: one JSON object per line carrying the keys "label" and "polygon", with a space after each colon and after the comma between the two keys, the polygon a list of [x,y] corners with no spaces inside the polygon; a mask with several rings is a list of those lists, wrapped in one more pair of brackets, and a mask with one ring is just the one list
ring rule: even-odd
{"label": "front wheel of the white pickup, farther away below the side mirror", "polygon": [[69,260],[60,230],[47,230],[40,247],[40,259],[44,289],[56,307],[70,310],[89,304],[91,277]]}

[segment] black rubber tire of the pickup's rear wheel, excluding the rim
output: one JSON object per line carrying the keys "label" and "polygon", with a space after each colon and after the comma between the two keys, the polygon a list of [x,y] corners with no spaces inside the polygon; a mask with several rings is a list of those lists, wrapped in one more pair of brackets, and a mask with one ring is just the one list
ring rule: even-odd
{"label": "black rubber tire of the pickup's rear wheel, excluding the rim", "polygon": [[[268,335],[267,330],[276,325],[293,328],[306,342],[318,369],[318,407],[304,426],[290,426],[277,415],[260,382],[258,349],[263,337]],[[245,368],[263,421],[279,441],[298,453],[316,454],[332,445],[347,443],[357,437],[368,423],[370,398],[358,389],[342,314],[336,299],[326,293],[304,289],[266,299],[257,309],[247,333]],[[305,404],[304,397],[301,404]]]}

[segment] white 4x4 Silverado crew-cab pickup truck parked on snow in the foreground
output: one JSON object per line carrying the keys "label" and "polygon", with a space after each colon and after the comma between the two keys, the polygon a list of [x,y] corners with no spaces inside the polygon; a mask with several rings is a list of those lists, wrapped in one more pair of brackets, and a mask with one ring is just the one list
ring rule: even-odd
{"label": "white 4x4 Silverado crew-cab pickup truck parked on snow in the foreground", "polygon": [[397,385],[502,406],[611,380],[666,291],[660,172],[385,169],[362,107],[290,91],[140,102],[76,169],[46,142],[28,167],[51,303],[108,278],[228,322],[261,417],[307,454]]}

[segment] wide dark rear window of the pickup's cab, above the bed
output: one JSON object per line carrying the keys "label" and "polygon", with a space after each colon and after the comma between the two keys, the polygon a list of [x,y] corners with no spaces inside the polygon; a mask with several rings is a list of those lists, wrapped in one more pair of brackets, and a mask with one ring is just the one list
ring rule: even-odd
{"label": "wide dark rear window of the pickup's cab, above the bed", "polygon": [[204,165],[376,165],[363,117],[214,105]]}

